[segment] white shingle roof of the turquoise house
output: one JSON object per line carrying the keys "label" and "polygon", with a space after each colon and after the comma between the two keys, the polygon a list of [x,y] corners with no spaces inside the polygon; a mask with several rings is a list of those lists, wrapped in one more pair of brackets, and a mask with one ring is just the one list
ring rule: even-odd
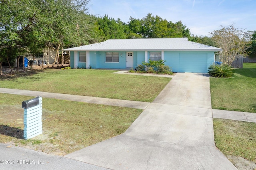
{"label": "white shingle roof of the turquoise house", "polygon": [[63,51],[222,51],[217,47],[190,42],[188,38],[114,39]]}

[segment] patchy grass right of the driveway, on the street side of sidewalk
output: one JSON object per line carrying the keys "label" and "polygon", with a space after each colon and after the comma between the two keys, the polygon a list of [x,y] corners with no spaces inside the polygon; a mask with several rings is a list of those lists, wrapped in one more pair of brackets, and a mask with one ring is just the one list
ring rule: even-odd
{"label": "patchy grass right of the driveway, on the street side of sidewalk", "polygon": [[225,119],[214,119],[213,123],[215,144],[219,150],[237,168],[254,169],[256,165],[256,123]]}

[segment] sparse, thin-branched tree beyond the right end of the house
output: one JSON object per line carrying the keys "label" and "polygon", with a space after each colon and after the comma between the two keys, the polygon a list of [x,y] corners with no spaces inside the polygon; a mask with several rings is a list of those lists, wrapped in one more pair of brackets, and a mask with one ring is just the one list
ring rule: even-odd
{"label": "sparse, thin-branched tree beyond the right end of the house", "polygon": [[210,33],[217,46],[222,48],[220,53],[221,61],[230,65],[239,55],[246,55],[246,32],[235,28],[234,25],[220,26],[220,30]]}

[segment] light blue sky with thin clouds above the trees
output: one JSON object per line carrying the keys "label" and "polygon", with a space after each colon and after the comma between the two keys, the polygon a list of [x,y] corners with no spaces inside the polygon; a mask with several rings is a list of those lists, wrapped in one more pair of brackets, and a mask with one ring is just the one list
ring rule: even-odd
{"label": "light blue sky with thin clouds above the trees", "polygon": [[172,22],[182,21],[190,33],[210,36],[220,25],[256,30],[256,0],[90,0],[89,14],[108,15],[122,22],[148,13]]}

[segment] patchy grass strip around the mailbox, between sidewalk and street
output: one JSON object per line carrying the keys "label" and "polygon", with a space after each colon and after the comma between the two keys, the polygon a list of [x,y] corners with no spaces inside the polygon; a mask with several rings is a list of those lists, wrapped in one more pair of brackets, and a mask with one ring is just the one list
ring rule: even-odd
{"label": "patchy grass strip around the mailbox, between sidewalk and street", "polygon": [[126,131],[141,109],[43,98],[43,134],[23,139],[28,96],[0,93],[0,142],[64,155]]}

